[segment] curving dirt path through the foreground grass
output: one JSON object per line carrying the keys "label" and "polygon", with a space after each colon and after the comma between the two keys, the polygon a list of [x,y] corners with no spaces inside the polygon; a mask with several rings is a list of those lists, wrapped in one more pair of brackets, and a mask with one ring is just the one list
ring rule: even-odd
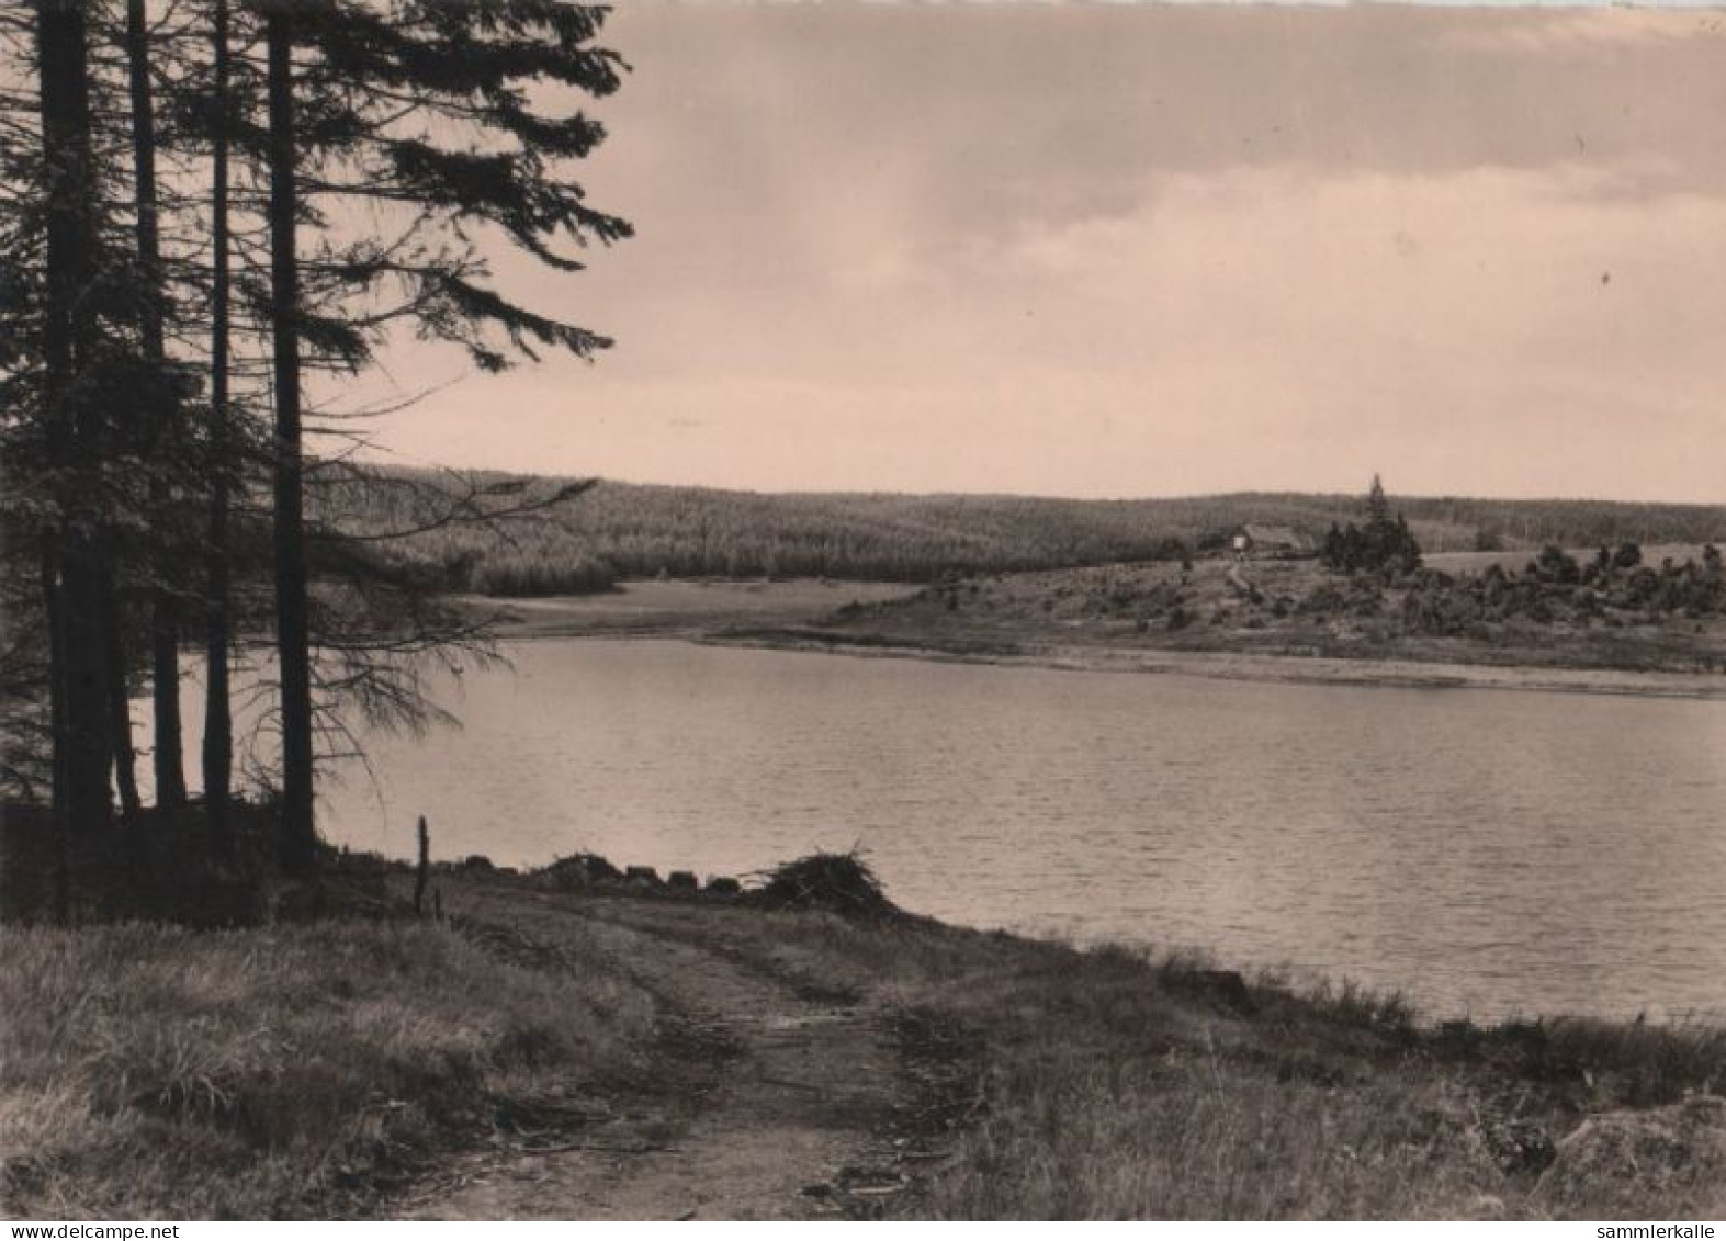
{"label": "curving dirt path through the foreground grass", "polygon": [[[580,944],[663,1008],[656,1089],[552,1143],[471,1155],[402,1219],[809,1219],[903,1193],[885,1137],[904,1103],[889,1013],[799,986],[666,903],[445,892],[475,934]],[[659,1068],[654,1072],[658,1074]]]}

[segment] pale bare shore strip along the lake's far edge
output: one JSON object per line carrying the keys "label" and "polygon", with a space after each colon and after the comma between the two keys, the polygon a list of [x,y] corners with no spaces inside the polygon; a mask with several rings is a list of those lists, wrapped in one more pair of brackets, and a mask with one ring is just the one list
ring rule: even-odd
{"label": "pale bare shore strip along the lake's far edge", "polygon": [[[464,597],[475,611],[502,618],[516,639],[678,639],[713,646],[811,651],[885,659],[1056,668],[1065,671],[1165,673],[1305,685],[1396,689],[1498,689],[1557,694],[1726,699],[1726,677],[1704,671],[1572,668],[1514,661],[1345,658],[1267,651],[1189,651],[1039,640],[1015,633],[989,640],[972,633],[910,633],[870,625],[823,625],[846,604],[906,599],[918,587],[894,582],[646,580],[599,595],[549,599]],[[1498,659],[1507,652],[1495,651]],[[1510,652],[1514,658],[1514,652]]]}

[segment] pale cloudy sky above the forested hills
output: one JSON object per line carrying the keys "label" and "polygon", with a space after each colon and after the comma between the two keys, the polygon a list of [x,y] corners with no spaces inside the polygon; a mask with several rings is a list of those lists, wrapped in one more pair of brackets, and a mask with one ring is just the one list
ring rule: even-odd
{"label": "pale cloudy sky above the forested hills", "polygon": [[753,490],[1726,502],[1726,14],[630,3],[497,254],[594,364],[402,345],[397,461]]}

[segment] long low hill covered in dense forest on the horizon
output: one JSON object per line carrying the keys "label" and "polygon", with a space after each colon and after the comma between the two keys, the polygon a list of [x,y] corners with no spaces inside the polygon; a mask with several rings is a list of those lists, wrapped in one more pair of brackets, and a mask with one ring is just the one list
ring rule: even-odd
{"label": "long low hill covered in dense forest on the horizon", "polygon": [[[532,507],[568,478],[463,476],[501,495],[478,507]],[[314,511],[343,530],[383,533],[437,523],[468,483],[388,471],[330,483]],[[1391,495],[1422,547],[1597,547],[1726,539],[1726,506],[1605,501],[1474,501]],[[756,494],[601,482],[535,513],[487,526],[437,525],[394,544],[445,587],[485,594],[573,594],[618,578],[830,576],[927,582],[1179,556],[1219,547],[1243,523],[1313,537],[1357,521],[1358,495],[1260,494],[1075,501],[1024,495]]]}

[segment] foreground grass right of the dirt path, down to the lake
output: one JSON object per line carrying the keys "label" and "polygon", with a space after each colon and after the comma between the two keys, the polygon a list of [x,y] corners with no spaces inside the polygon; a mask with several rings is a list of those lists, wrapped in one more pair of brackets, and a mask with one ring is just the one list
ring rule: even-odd
{"label": "foreground grass right of the dirt path, down to the lake", "polygon": [[[661,906],[658,925],[967,1046],[935,1219],[1600,1219],[1726,1210],[1726,1030],[1422,1024],[1193,953],[918,918]],[[1723,1105],[1726,1108],[1726,1105]]]}

